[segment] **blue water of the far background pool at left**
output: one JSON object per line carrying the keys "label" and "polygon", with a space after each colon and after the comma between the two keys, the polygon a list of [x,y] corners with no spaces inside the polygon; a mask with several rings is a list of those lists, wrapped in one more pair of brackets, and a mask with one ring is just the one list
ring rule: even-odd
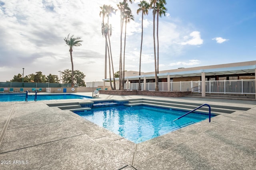
{"label": "blue water of the far background pool at left", "polygon": [[[28,101],[34,101],[35,95],[28,95]],[[38,94],[37,100],[60,100],[60,99],[88,99],[90,96],[81,96],[76,94]],[[0,102],[25,101],[26,93],[19,94],[0,94]]]}

